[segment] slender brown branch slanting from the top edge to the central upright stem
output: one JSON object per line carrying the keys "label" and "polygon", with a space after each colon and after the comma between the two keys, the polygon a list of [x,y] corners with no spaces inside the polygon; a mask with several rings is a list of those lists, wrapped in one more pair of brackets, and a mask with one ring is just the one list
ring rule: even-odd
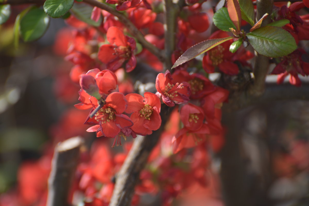
{"label": "slender brown branch slanting from the top edge to the central upright stem", "polygon": [[151,53],[153,53],[155,56],[159,58],[161,62],[165,61],[165,57],[162,54],[162,51],[158,49],[155,45],[149,43],[142,34],[141,31],[138,30],[138,28],[135,27],[135,25],[126,17],[124,14],[121,14],[120,12],[116,11],[111,6],[108,6],[107,4],[98,2],[97,0],[84,0],[83,2],[90,4],[92,6],[99,7],[100,9],[103,9],[105,11],[108,11],[109,13],[113,14],[118,18],[118,20],[123,23],[129,31],[131,31],[132,35],[138,39],[138,42],[142,44],[142,46],[146,49],[148,49]]}

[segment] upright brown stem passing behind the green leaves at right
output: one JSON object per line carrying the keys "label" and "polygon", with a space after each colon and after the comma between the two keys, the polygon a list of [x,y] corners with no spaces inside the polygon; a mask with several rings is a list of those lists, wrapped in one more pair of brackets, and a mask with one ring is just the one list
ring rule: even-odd
{"label": "upright brown stem passing behind the green leaves at right", "polygon": [[[256,1],[256,19],[259,20],[265,13],[272,14],[273,11],[273,0],[258,0]],[[266,19],[263,20],[261,26],[265,26],[270,23],[271,15],[268,15]],[[263,94],[265,90],[265,79],[268,74],[269,69],[269,58],[257,54],[255,65],[253,69],[254,83],[251,88],[249,88],[249,94],[259,97]]]}

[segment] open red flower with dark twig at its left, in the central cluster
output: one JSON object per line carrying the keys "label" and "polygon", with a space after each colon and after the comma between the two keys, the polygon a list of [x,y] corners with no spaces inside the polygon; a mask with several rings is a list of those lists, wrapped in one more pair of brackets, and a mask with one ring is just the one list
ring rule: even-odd
{"label": "open red flower with dark twig at its left, in the central cluster", "polygon": [[[127,101],[123,94],[119,92],[111,93],[107,96],[105,105],[95,114],[95,117],[87,119],[86,124],[98,124],[90,127],[87,132],[96,131],[97,137],[115,138],[121,133],[121,129],[133,125],[130,118],[122,114],[126,107]],[[119,134],[119,136],[123,136],[123,134]]]}

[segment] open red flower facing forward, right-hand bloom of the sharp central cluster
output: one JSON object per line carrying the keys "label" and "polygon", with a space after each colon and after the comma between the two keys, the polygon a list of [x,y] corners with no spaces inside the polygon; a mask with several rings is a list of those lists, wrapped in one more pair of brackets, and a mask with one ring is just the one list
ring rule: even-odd
{"label": "open red flower facing forward, right-hand bloom of the sharp central cluster", "polygon": [[152,130],[158,130],[162,122],[160,99],[150,92],[145,92],[144,97],[134,93],[125,96],[128,101],[125,112],[133,112],[130,117],[133,121],[131,129],[140,135],[148,135]]}

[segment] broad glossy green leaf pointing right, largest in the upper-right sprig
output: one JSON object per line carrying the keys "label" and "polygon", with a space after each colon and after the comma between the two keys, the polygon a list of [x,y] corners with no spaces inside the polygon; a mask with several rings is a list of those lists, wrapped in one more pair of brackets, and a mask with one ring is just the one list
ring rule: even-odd
{"label": "broad glossy green leaf pointing right, largest in the upper-right sprig", "polygon": [[268,57],[286,56],[297,47],[294,37],[280,27],[260,27],[246,36],[259,54]]}

